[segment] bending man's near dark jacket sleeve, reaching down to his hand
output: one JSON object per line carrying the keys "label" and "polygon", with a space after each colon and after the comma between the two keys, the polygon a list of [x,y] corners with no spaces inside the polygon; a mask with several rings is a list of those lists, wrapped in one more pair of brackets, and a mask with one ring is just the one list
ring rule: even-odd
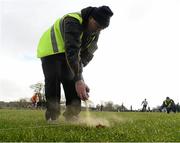
{"label": "bending man's near dark jacket sleeve, reaching down to his hand", "polygon": [[82,64],[80,61],[80,45],[82,26],[79,21],[73,17],[66,17],[63,20],[64,26],[64,44],[67,63],[74,73],[74,80],[81,80]]}

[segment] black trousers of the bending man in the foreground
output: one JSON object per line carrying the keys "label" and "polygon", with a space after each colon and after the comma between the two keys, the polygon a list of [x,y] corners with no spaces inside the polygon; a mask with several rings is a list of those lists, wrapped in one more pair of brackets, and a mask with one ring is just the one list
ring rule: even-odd
{"label": "black trousers of the bending man in the foreground", "polygon": [[68,67],[65,54],[60,53],[41,58],[42,69],[45,77],[45,97],[47,111],[51,118],[60,115],[61,84],[66,98],[66,111],[64,116],[71,118],[81,111],[81,100],[75,90],[73,73]]}

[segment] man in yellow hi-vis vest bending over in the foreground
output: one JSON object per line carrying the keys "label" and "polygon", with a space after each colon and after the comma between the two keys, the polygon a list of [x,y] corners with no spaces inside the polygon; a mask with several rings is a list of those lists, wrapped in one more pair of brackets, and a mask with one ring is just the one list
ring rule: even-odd
{"label": "man in yellow hi-vis vest bending over in the foreground", "polygon": [[66,98],[65,120],[77,119],[81,100],[89,98],[83,67],[92,60],[100,32],[109,26],[112,15],[108,6],[87,7],[57,19],[41,37],[37,56],[45,77],[47,121],[59,118],[61,84]]}

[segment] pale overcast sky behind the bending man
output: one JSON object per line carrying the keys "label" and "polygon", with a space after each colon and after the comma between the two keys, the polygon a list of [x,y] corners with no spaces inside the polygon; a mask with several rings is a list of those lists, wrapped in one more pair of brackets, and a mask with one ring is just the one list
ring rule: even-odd
{"label": "pale overcast sky behind the bending man", "polygon": [[179,0],[0,0],[0,100],[30,98],[43,82],[36,48],[57,18],[87,6],[114,12],[94,59],[84,69],[95,104],[113,101],[141,108],[169,96],[180,102]]}

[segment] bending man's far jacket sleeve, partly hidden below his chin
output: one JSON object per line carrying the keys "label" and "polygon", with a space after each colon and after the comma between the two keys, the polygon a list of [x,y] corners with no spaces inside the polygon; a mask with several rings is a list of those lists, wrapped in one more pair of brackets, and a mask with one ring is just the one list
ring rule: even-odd
{"label": "bending man's far jacket sleeve, partly hidden below his chin", "polygon": [[81,61],[82,61],[83,67],[88,65],[88,63],[94,57],[94,55],[93,55],[94,52],[98,49],[97,41],[99,38],[99,34],[100,33],[97,33],[96,38],[91,42],[90,46],[81,52]]}

